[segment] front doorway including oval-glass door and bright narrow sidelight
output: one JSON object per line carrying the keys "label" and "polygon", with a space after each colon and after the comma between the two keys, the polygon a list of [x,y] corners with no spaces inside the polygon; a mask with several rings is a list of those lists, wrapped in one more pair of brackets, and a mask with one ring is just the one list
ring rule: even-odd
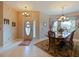
{"label": "front doorway including oval-glass door and bright narrow sidelight", "polygon": [[26,20],[24,22],[24,40],[32,40],[36,38],[36,22]]}

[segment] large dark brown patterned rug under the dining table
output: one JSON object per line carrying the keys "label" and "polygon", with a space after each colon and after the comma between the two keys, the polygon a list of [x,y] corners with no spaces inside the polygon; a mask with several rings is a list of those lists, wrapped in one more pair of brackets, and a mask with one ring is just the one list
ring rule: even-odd
{"label": "large dark brown patterned rug under the dining table", "polygon": [[75,50],[73,50],[73,51],[70,51],[70,50],[66,50],[66,51],[56,50],[55,51],[54,49],[48,50],[48,47],[49,47],[49,40],[48,39],[38,42],[35,45],[54,57],[79,57],[79,53],[78,53],[79,51],[75,51]]}

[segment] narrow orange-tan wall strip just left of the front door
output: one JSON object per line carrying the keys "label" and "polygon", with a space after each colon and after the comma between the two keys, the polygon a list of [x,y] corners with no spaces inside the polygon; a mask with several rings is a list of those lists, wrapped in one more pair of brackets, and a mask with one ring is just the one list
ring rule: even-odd
{"label": "narrow orange-tan wall strip just left of the front door", "polygon": [[18,12],[18,20],[17,20],[17,38],[22,39],[23,38],[23,16],[20,12]]}

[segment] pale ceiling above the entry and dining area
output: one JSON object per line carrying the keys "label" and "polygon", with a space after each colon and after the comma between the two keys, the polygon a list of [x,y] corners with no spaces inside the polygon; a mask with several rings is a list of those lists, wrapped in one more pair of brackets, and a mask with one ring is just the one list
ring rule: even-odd
{"label": "pale ceiling above the entry and dining area", "polygon": [[46,15],[61,15],[64,6],[64,14],[79,12],[79,1],[6,1],[4,2],[17,11],[24,11],[25,6],[31,11],[40,11]]}

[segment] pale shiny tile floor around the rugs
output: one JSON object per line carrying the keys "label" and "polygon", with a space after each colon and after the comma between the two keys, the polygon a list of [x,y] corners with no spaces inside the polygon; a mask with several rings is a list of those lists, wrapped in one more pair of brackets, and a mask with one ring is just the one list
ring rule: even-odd
{"label": "pale shiny tile floor around the rugs", "polygon": [[32,40],[29,46],[18,46],[19,42],[17,42],[12,47],[7,49],[5,47],[0,50],[0,57],[51,57],[51,55],[34,45],[38,41],[40,39]]}

